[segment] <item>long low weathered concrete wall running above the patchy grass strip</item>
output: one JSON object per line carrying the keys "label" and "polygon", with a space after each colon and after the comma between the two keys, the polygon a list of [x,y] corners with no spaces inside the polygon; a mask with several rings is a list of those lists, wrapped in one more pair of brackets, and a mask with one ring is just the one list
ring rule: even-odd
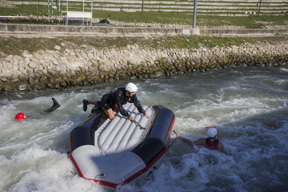
{"label": "long low weathered concrete wall running above the patchy grass strip", "polygon": [[275,35],[288,34],[288,29],[185,29],[152,27],[58,26],[0,24],[0,33],[15,34],[93,34],[93,35]]}

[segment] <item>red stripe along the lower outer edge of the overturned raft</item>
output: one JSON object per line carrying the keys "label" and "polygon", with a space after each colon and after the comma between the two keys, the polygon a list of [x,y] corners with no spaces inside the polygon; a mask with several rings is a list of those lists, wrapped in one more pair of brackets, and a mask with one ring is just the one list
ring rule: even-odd
{"label": "red stripe along the lower outer edge of the overturned raft", "polygon": [[[170,133],[169,133],[169,137],[171,136],[171,133],[172,133],[172,130],[173,130],[173,126],[174,126],[174,123],[175,123],[175,119],[176,117],[174,117],[174,120],[173,120],[173,123],[172,123],[172,126],[171,126],[171,129],[170,129]],[[129,177],[128,179],[124,180],[123,183],[119,184],[119,183],[111,183],[111,182],[108,182],[108,181],[101,181],[101,180],[96,180],[96,179],[89,179],[89,178],[86,178],[83,176],[83,174],[81,173],[75,159],[73,158],[72,154],[70,154],[70,159],[72,161],[72,163],[74,164],[78,174],[80,177],[84,178],[85,180],[92,180],[96,183],[99,183],[100,185],[105,185],[105,186],[108,186],[108,187],[112,187],[112,188],[117,188],[117,186],[119,185],[124,185],[126,183],[129,183],[131,182],[132,180],[134,180],[135,178],[139,177],[140,175],[142,175],[143,173],[145,173],[146,171],[148,171],[166,152],[167,152],[167,147],[168,147],[168,144],[169,142],[167,142],[166,144],[166,147],[165,149],[159,153],[159,155],[156,156],[156,158],[154,158],[145,168],[143,168],[142,170],[140,170],[139,172],[135,173],[134,175],[132,175],[131,177]]]}

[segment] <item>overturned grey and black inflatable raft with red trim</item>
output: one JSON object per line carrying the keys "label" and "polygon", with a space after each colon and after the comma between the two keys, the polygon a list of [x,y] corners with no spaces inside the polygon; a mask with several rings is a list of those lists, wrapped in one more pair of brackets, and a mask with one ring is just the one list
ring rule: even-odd
{"label": "overturned grey and black inflatable raft with red trim", "polygon": [[69,135],[69,158],[80,177],[117,188],[148,175],[165,157],[175,122],[174,113],[160,105],[123,106],[137,122],[119,112],[113,120],[102,110],[92,113]]}

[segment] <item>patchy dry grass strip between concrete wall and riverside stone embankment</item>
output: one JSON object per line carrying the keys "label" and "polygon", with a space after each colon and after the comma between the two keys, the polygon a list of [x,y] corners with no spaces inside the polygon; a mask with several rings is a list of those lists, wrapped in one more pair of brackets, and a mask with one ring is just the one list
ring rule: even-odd
{"label": "patchy dry grass strip between concrete wall and riverside stone embankment", "polygon": [[[153,36],[153,37],[60,37],[60,38],[18,38],[0,37],[0,50],[4,55],[22,55],[24,50],[30,53],[39,50],[55,50],[56,45],[65,43],[67,49],[91,50],[118,49],[127,45],[137,44],[141,49],[165,48],[212,48],[215,46],[229,47],[242,43],[257,43],[263,41],[283,41],[288,36],[274,37],[202,37],[202,36]],[[35,43],[37,42],[37,43]],[[4,55],[0,55],[4,57]]]}

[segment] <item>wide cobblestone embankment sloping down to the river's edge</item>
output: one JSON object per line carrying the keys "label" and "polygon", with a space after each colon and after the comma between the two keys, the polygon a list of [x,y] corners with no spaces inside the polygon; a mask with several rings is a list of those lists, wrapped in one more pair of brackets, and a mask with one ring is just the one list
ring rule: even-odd
{"label": "wide cobblestone embankment sloping down to the river's edge", "polygon": [[[0,91],[67,89],[127,79],[216,71],[229,66],[288,64],[288,41],[242,44],[208,49],[140,49],[137,45],[115,50],[65,49],[24,51],[0,59]],[[87,51],[88,50],[88,51]]]}

